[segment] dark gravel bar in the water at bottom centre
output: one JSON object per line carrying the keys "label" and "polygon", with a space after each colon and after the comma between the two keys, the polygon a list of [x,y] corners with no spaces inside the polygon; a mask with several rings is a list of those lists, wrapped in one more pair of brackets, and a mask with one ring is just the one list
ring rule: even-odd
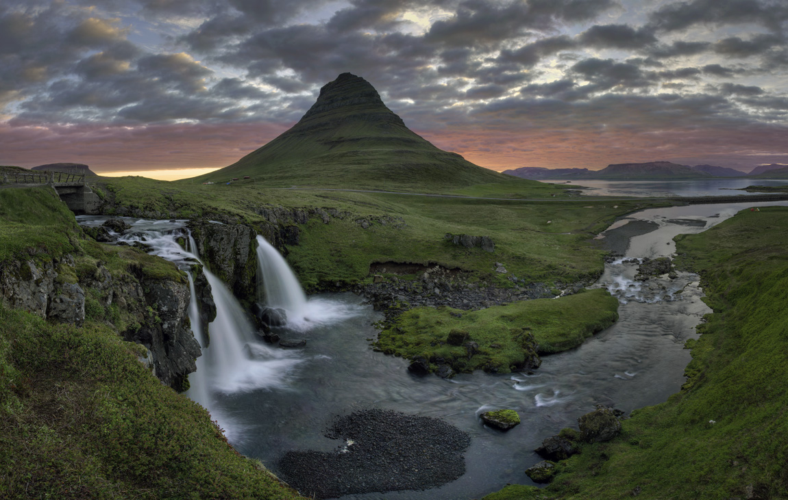
{"label": "dark gravel bar in the water at bottom centre", "polygon": [[282,480],[301,494],[426,490],[465,473],[470,436],[444,421],[391,410],[361,410],[339,417],[325,432],[344,439],[334,452],[289,451],[278,463]]}

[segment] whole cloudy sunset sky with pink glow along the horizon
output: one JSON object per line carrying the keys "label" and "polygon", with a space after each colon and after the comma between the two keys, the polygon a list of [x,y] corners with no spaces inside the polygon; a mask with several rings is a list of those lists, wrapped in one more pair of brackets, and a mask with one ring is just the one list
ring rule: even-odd
{"label": "whole cloudy sunset sky with pink glow along the horizon", "polygon": [[352,72],[499,171],[749,171],[788,164],[786,28],[786,0],[2,0],[0,164],[225,167]]}

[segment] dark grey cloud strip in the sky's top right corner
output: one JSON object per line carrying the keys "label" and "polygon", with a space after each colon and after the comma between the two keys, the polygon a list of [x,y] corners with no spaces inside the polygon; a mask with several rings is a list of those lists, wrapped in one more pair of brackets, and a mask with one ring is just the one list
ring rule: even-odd
{"label": "dark grey cloud strip in the sky's top right corner", "polygon": [[671,2],[650,16],[650,25],[660,31],[676,31],[695,24],[761,24],[774,31],[788,20],[783,0],[690,0]]}

